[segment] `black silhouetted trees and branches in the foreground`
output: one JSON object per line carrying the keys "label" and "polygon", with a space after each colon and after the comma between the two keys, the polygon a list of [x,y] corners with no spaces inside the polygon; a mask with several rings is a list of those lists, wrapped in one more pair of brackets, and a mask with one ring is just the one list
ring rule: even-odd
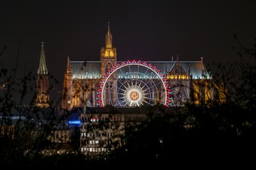
{"label": "black silhouetted trees and branches in the foreground", "polygon": [[[28,90],[34,90],[28,82],[35,81],[35,78],[28,73],[17,80],[16,70],[9,72],[10,70],[1,68],[0,163],[9,168],[28,166],[44,169],[80,165],[95,167],[96,164],[170,164],[187,160],[196,163],[203,160],[219,162],[227,158],[251,160],[253,156],[249,154],[255,152],[256,142],[256,41],[254,49],[247,49],[239,41],[238,45],[238,49],[234,50],[241,57],[240,60],[228,66],[218,65],[218,73],[221,74],[213,74],[214,80],[224,83],[224,89],[228,89],[225,91],[224,103],[216,99],[200,105],[191,102],[185,107],[143,106],[140,109],[147,114],[147,119],[127,124],[125,135],[120,137],[122,145],[113,143],[115,150],[96,160],[90,160],[81,154],[77,143],[73,143],[77,149],[75,154],[40,154],[40,148],[48,144],[46,137],[54,121],[57,121],[56,117],[51,116],[55,108],[48,112],[48,124],[42,126],[36,135],[31,134],[31,129],[36,128],[36,124],[31,121],[31,114],[28,114],[32,108],[17,107],[22,102],[16,103],[13,98],[19,97],[18,101],[22,101]],[[3,52],[4,50],[1,55]],[[31,101],[30,105],[33,104],[34,101]],[[13,109],[17,109],[20,114],[13,115]],[[117,109],[110,105],[106,105],[104,111],[118,114]],[[32,113],[36,113],[36,109]],[[14,116],[24,116],[25,120],[19,118],[14,125]],[[79,140],[77,134],[74,136]]]}

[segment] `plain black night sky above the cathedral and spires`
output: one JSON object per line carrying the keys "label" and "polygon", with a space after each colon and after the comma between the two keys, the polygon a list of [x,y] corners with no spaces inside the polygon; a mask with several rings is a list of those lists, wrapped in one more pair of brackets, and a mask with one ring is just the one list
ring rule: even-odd
{"label": "plain black night sky above the cathedral and spires", "polygon": [[255,1],[5,1],[0,5],[1,66],[36,73],[45,41],[49,73],[62,85],[67,56],[99,61],[107,24],[118,61],[141,59],[228,62],[237,58],[236,33],[245,45],[256,37]]}

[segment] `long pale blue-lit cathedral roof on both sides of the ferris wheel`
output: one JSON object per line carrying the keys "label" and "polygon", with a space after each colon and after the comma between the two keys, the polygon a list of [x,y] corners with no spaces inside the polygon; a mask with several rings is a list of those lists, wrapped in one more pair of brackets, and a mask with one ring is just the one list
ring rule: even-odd
{"label": "long pale blue-lit cathedral roof on both sides of the ferris wheel", "polygon": [[[161,70],[162,74],[169,74],[177,61],[146,61]],[[210,74],[201,61],[178,61],[183,67],[186,74],[192,75],[192,79],[210,79]],[[122,63],[122,61],[117,61]],[[101,78],[101,62],[100,61],[71,61],[73,78],[78,79],[95,79]],[[139,70],[142,71],[143,70]],[[118,75],[122,78],[123,75]]]}

